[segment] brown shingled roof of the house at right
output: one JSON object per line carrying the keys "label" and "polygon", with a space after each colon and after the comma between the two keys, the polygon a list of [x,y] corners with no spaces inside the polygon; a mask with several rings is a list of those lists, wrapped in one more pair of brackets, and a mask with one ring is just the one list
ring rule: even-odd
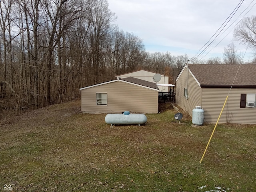
{"label": "brown shingled roof of the house at right", "polygon": [[188,68],[201,87],[230,88],[234,81],[233,88],[256,88],[255,64],[188,64]]}

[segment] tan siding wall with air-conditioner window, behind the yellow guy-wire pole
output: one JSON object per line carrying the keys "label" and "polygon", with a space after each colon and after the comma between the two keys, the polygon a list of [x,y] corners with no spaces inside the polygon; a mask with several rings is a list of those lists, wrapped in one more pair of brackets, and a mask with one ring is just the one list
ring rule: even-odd
{"label": "tan siding wall with air-conditioner window, behind the yellow guy-wire pole", "polygon": [[[202,88],[204,122],[216,123],[229,90],[228,88]],[[240,108],[242,93],[256,93],[256,89],[232,88],[219,123],[256,124],[256,108]]]}

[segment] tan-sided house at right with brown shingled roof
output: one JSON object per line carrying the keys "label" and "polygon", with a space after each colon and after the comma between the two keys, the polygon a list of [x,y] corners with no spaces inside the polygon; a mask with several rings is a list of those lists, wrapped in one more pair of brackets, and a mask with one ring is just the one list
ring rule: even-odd
{"label": "tan-sided house at right with brown shingled roof", "polygon": [[204,109],[204,122],[256,124],[256,65],[186,64],[176,78],[176,104],[192,116]]}

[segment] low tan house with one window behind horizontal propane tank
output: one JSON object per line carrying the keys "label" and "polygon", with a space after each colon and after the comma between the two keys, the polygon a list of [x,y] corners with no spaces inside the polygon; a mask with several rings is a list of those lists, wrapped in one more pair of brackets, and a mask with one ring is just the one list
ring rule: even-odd
{"label": "low tan house with one window behind horizontal propane tank", "polygon": [[84,113],[158,113],[156,83],[133,77],[80,88]]}

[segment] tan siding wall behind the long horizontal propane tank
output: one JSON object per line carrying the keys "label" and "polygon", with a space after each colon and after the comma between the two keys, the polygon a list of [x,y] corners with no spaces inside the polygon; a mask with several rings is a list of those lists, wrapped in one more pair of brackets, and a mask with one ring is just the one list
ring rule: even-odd
{"label": "tan siding wall behind the long horizontal propane tank", "polygon": [[[107,105],[96,105],[96,92],[107,93]],[[87,113],[158,113],[158,91],[126,82],[110,82],[81,90],[81,110]]]}

